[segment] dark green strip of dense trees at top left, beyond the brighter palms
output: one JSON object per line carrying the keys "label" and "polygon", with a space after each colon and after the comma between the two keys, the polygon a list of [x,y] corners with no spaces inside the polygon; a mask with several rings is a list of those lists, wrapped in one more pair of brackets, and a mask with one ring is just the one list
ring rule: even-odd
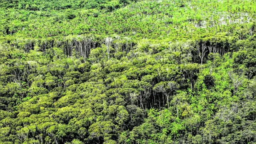
{"label": "dark green strip of dense trees at top left, beyond the brighter palms", "polygon": [[58,0],[53,2],[51,0],[6,0],[0,2],[0,7],[16,10],[29,10],[29,11],[50,11],[50,10],[65,10],[65,9],[92,9],[97,8],[106,10],[108,12],[126,6],[129,0]]}

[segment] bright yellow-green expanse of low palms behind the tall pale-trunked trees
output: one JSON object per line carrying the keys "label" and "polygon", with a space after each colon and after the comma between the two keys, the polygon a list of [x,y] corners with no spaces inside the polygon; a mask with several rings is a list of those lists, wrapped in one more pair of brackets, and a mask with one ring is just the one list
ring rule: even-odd
{"label": "bright yellow-green expanse of low palms behind the tall pale-trunked trees", "polygon": [[[78,5],[74,2],[58,0],[60,4]],[[12,2],[12,1],[2,1]],[[18,4],[22,3],[17,1]],[[26,1],[25,1],[26,2]],[[248,26],[255,20],[256,2],[253,0],[228,0],[202,2],[191,1],[146,1],[123,4],[122,0],[96,3],[111,5],[108,7],[86,8],[94,1],[82,1],[85,4],[79,8],[70,7],[64,10],[58,8],[58,2],[39,2],[40,8],[52,6],[47,11],[18,10],[18,8],[2,8],[0,10],[0,34],[12,35],[15,38],[47,38],[68,35],[99,34],[108,36],[119,34],[140,38],[170,38],[197,37],[202,33],[216,34],[218,32],[240,33],[241,38],[251,35],[253,29]],[[46,4],[45,4],[46,3]],[[54,3],[54,4],[51,4]],[[56,3],[56,4],[55,4]],[[124,7],[125,6],[125,7]],[[124,8],[122,8],[124,7]],[[110,10],[112,11],[112,10]],[[76,26],[74,26],[74,24]],[[226,26],[223,26],[226,25]],[[10,39],[8,39],[10,40]]]}

